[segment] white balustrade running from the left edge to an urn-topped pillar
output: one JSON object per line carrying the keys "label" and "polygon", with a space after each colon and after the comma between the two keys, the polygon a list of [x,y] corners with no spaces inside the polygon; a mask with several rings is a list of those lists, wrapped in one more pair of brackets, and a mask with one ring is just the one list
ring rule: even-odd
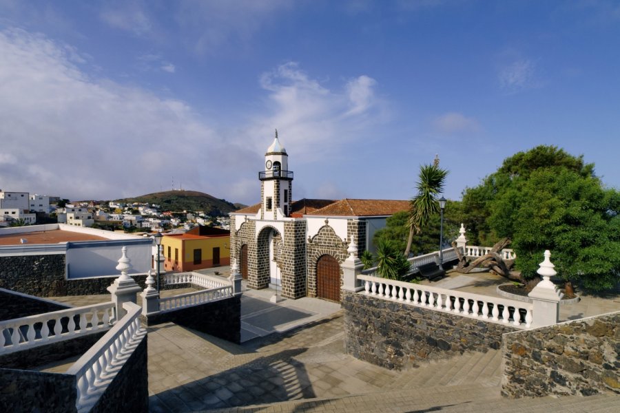
{"label": "white balustrade running from the left edge to an urn-topped pillar", "polygon": [[0,321],[0,354],[107,330],[113,309],[110,301]]}

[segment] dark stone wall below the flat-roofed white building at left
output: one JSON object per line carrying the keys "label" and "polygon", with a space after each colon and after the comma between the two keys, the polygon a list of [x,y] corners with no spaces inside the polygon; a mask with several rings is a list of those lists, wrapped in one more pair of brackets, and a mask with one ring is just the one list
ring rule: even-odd
{"label": "dark stone wall below the flat-roofed white building at left", "polygon": [[[146,275],[131,277],[145,288]],[[37,297],[107,294],[112,282],[114,277],[65,279],[64,254],[0,257],[0,288],[18,293]]]}

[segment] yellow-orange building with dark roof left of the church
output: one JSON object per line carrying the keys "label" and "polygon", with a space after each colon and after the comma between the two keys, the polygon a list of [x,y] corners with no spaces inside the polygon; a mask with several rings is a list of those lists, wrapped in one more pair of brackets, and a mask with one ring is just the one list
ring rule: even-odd
{"label": "yellow-orange building with dark roof left of the church", "polygon": [[166,271],[230,265],[230,231],[224,229],[200,225],[183,234],[164,234],[161,244]]}

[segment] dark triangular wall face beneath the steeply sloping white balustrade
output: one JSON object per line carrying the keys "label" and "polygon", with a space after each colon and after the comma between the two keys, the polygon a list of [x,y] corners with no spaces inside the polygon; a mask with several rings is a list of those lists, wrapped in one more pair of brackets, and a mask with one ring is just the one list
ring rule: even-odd
{"label": "dark triangular wall face beneath the steeply sloping white balustrade", "polygon": [[144,335],[142,342],[125,361],[90,413],[147,412],[149,410],[147,361],[147,335]]}

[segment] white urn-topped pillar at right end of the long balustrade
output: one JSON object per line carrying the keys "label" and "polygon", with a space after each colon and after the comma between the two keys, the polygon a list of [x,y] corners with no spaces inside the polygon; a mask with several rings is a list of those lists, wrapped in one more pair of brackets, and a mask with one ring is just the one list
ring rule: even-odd
{"label": "white urn-topped pillar at right end of the long balustrade", "polygon": [[553,269],[555,265],[551,263],[550,257],[551,253],[546,250],[545,260],[539,264],[540,267],[537,271],[543,279],[528,294],[534,304],[533,327],[551,326],[559,321],[559,302],[564,294],[560,293],[559,288],[549,279],[549,277],[557,274]]}

